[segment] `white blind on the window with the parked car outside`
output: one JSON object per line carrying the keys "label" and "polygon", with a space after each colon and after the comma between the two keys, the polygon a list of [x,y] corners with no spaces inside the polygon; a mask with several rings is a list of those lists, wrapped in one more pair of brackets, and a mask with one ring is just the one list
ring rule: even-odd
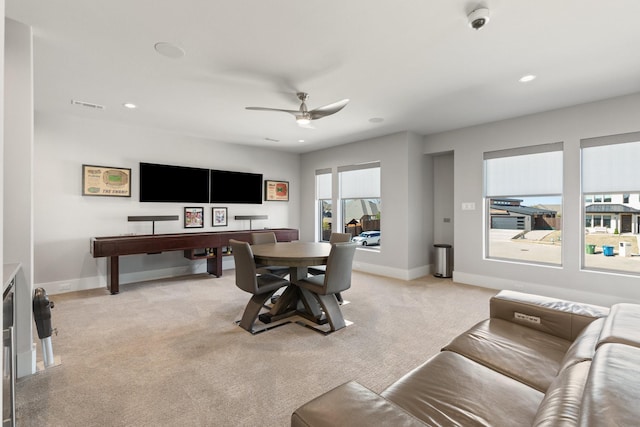
{"label": "white blind on the window with the parked car outside", "polygon": [[373,199],[380,197],[380,163],[338,168],[342,199]]}

